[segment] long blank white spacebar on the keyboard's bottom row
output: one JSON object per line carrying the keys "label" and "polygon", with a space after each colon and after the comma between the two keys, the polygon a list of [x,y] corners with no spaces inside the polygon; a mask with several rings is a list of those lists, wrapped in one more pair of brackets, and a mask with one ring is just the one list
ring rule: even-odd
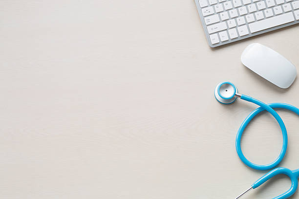
{"label": "long blank white spacebar on the keyboard's bottom row", "polygon": [[254,23],[249,23],[249,29],[251,33],[255,33],[261,30],[266,30],[268,28],[272,28],[278,25],[282,25],[285,23],[289,23],[295,21],[293,13],[289,12],[283,15],[278,15],[276,17],[272,17],[266,20],[256,21]]}

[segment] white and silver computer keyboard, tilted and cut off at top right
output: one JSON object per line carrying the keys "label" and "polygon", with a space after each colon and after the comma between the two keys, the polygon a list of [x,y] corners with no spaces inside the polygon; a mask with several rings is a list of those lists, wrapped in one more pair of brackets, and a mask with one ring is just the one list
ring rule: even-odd
{"label": "white and silver computer keyboard, tilted and cut off at top right", "polygon": [[195,2],[211,47],[299,23],[299,0],[195,0]]}

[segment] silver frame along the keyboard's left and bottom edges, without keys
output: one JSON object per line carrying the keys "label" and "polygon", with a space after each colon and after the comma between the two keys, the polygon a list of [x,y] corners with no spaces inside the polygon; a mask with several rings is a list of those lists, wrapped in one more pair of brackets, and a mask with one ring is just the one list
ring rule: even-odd
{"label": "silver frame along the keyboard's left and bottom edges, without keys", "polygon": [[[199,5],[199,2],[198,2],[198,0],[194,0],[194,1],[195,1],[195,4],[196,4],[196,7],[197,7],[197,11],[198,11],[198,14],[199,14],[201,25],[203,26],[203,29],[204,29],[204,32],[205,32],[208,44],[212,48],[218,47],[218,46],[222,46],[222,45],[225,45],[225,44],[229,44],[229,43],[233,43],[235,41],[239,41],[239,40],[244,40],[244,39],[247,39],[247,38],[251,38],[251,37],[254,37],[256,35],[261,35],[261,34],[264,34],[264,33],[268,33],[268,32],[274,31],[274,30],[278,30],[278,29],[281,29],[281,28],[284,28],[284,27],[288,27],[288,26],[292,26],[292,25],[295,25],[295,24],[299,23],[299,20],[295,20],[294,22],[290,22],[290,23],[278,25],[276,27],[272,27],[272,28],[269,28],[269,29],[266,29],[266,30],[261,30],[261,31],[256,32],[256,33],[251,33],[249,31],[249,35],[246,35],[246,36],[243,36],[243,37],[238,37],[238,38],[235,38],[235,39],[231,39],[229,37],[229,40],[227,40],[227,41],[219,42],[219,43],[216,43],[216,44],[212,44],[212,42],[211,42],[211,40],[209,38],[210,34],[208,33],[207,26],[205,25],[204,16],[201,13],[201,7]],[[247,22],[246,22],[246,25],[248,27],[248,23]],[[229,30],[229,28],[227,30]],[[249,27],[248,27],[248,30],[249,30]]]}

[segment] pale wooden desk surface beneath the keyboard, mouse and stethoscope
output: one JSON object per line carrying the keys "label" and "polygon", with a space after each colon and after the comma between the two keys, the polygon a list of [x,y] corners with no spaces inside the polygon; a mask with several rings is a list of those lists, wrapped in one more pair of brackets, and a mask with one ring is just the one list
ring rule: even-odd
{"label": "pale wooden desk surface beneath the keyboard, mouse and stethoscope", "polygon": [[[299,106],[240,62],[253,42],[299,70],[299,26],[208,46],[193,0],[0,1],[0,198],[233,199],[266,172],[246,167],[236,131],[256,106],[221,105],[220,81],[264,102]],[[299,117],[279,110],[299,168]],[[276,159],[277,122],[242,139],[255,163]],[[286,191],[278,177],[244,199]],[[298,199],[296,194],[293,199]]]}

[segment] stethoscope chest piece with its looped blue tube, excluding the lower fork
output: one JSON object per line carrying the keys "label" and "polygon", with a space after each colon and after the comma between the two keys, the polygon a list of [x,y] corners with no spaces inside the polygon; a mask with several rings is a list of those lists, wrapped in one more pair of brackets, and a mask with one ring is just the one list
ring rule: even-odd
{"label": "stethoscope chest piece with its looped blue tube, excluding the lower fork", "polygon": [[[230,104],[230,103],[233,103],[236,100],[236,98],[240,98],[242,100],[250,101],[250,102],[255,103],[256,105],[260,106],[255,111],[253,111],[249,116],[247,116],[247,118],[243,121],[243,123],[241,124],[241,126],[240,126],[240,128],[237,132],[236,140],[235,140],[235,147],[236,147],[237,154],[238,154],[239,158],[244,162],[244,164],[246,164],[247,166],[249,166],[253,169],[256,169],[256,170],[271,169],[271,168],[277,166],[281,162],[281,160],[283,159],[283,157],[286,153],[287,145],[288,145],[288,136],[287,136],[287,131],[286,131],[285,125],[284,125],[282,119],[280,118],[280,116],[278,115],[278,113],[274,110],[274,108],[288,109],[290,111],[293,111],[293,112],[297,113],[298,115],[299,115],[299,109],[295,106],[292,106],[290,104],[284,104],[284,103],[265,104],[265,103],[263,103],[259,100],[251,98],[249,96],[238,94],[237,89],[235,89],[235,94],[234,94],[234,96],[232,96],[231,92],[234,91],[234,87],[235,87],[234,84],[232,84],[231,82],[219,83],[216,86],[216,89],[215,89],[215,98],[216,98],[216,100],[218,100],[219,102],[221,102],[223,104]],[[229,88],[229,89],[227,89],[227,88]],[[230,99],[223,99],[222,98],[223,93],[226,93],[226,92],[229,93],[226,96],[229,96]],[[258,113],[260,113],[264,110],[268,111],[278,121],[278,124],[279,124],[281,132],[282,132],[283,141],[282,141],[282,149],[281,149],[277,159],[275,159],[270,164],[258,165],[258,164],[252,163],[251,161],[246,159],[246,157],[244,156],[244,154],[241,150],[241,138],[242,138],[242,134],[243,134],[245,128],[247,127],[247,125],[249,124],[249,122]]]}

